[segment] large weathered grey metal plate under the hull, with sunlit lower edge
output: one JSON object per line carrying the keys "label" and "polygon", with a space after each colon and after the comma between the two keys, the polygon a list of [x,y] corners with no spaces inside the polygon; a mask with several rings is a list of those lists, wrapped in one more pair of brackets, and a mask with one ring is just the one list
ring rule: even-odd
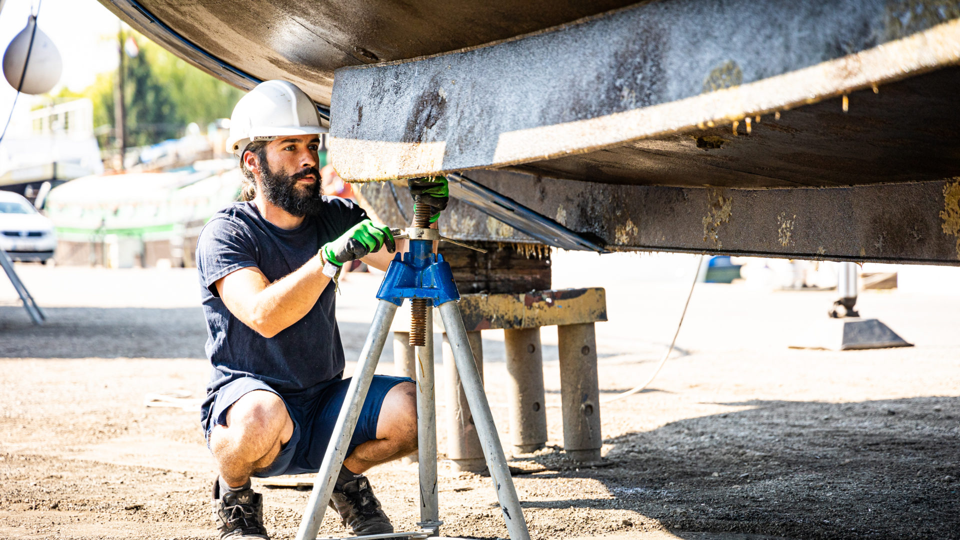
{"label": "large weathered grey metal plate under the hull, with sunlit lower edge", "polygon": [[960,174],[958,62],[960,2],[640,4],[341,68],[333,164],[360,182],[511,165],[626,184],[934,180]]}

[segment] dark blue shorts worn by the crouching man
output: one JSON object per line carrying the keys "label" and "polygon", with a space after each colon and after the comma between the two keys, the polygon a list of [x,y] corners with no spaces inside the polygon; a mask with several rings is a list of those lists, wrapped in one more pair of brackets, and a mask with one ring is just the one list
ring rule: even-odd
{"label": "dark blue shorts worn by the crouching man", "polygon": [[[350,439],[347,454],[357,446],[376,438],[376,421],[380,416],[383,398],[391,388],[403,381],[413,381],[406,377],[388,377],[374,375],[364,401],[356,430]],[[300,475],[316,473],[324,461],[326,445],[333,435],[340,408],[347,396],[349,379],[327,380],[295,393],[279,393],[266,382],[252,377],[232,380],[217,390],[213,406],[210,409],[206,442],[210,443],[210,431],[215,425],[227,425],[227,410],[248,392],[266,390],[273,392],[287,405],[287,412],[294,422],[294,433],[280,450],[273,463],[264,470],[253,473],[254,477],[276,477],[278,475]]]}

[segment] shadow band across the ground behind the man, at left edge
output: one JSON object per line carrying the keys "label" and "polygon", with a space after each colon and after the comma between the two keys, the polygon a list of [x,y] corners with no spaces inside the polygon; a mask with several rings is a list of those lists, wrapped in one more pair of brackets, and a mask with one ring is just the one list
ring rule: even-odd
{"label": "shadow band across the ground behind the man, at left edge", "polygon": [[0,357],[205,358],[201,307],[44,307],[43,326],[23,307],[0,307]]}

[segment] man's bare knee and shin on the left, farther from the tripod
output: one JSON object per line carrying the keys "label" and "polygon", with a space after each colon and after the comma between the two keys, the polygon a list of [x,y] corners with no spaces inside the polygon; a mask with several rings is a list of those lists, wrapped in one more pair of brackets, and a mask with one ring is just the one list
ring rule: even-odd
{"label": "man's bare knee and shin on the left, farther from the tripod", "polygon": [[267,390],[244,394],[228,409],[227,426],[210,432],[220,477],[230,487],[245,485],[254,471],[274,462],[293,432],[293,420],[279,396]]}

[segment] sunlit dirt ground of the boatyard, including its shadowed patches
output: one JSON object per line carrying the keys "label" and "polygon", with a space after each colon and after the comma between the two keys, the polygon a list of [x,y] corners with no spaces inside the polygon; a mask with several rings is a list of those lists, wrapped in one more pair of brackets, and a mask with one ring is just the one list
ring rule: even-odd
{"label": "sunlit dirt ground of the boatyard, including its shadowed patches", "polygon": [[[597,329],[610,396],[649,376],[688,282],[631,274],[645,258],[602,260],[573,273],[558,257],[554,284],[607,287],[611,321]],[[203,395],[195,272],[17,268],[49,322],[33,327],[0,283],[0,538],[213,538],[215,471],[199,414],[144,406],[151,392]],[[377,284],[372,275],[343,283],[348,359]],[[833,294],[698,285],[678,351],[652,388],[601,407],[606,462],[597,468],[564,460],[556,331],[544,329],[550,446],[513,461],[537,471],[516,478],[532,536],[960,538],[960,296],[861,296],[861,312],[913,348],[788,349],[826,324]],[[502,332],[484,337],[488,395],[509,440]],[[392,367],[388,345],[380,372]],[[440,469],[443,533],[505,537],[490,479],[451,473],[446,461]],[[415,528],[416,465],[369,477],[396,528]],[[267,528],[294,537],[307,493],[263,484],[254,480]],[[343,529],[328,515],[321,534]]]}

